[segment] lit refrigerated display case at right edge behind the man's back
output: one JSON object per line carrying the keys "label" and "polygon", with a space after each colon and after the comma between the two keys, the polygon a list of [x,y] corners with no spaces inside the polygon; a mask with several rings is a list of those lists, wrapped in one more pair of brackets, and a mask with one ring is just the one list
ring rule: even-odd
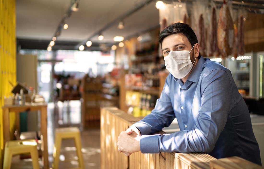
{"label": "lit refrigerated display case at right edge behind the man's back", "polygon": [[245,53],[236,59],[227,58],[223,64],[231,71],[249,112],[260,115],[264,115],[263,56],[264,51]]}

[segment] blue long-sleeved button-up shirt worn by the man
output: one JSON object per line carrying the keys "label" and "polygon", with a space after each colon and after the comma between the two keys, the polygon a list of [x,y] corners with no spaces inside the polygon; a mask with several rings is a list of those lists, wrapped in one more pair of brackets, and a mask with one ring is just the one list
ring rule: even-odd
{"label": "blue long-sleeved button-up shirt worn by the man", "polygon": [[[168,127],[175,117],[180,132],[149,135]],[[142,153],[205,152],[261,165],[249,111],[232,74],[209,58],[200,57],[185,83],[169,73],[155,108],[133,125],[142,135]]]}

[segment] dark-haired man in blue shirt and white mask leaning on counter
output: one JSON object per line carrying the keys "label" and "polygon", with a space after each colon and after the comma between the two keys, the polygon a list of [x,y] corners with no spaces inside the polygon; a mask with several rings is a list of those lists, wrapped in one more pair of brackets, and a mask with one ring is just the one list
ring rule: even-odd
{"label": "dark-haired man in blue shirt and white mask leaning on counter", "polygon": [[[151,114],[120,133],[119,152],[205,152],[261,165],[249,111],[231,72],[199,55],[189,25],[168,26],[159,34],[159,43],[170,73]],[[168,127],[175,117],[180,132],[149,135]]]}

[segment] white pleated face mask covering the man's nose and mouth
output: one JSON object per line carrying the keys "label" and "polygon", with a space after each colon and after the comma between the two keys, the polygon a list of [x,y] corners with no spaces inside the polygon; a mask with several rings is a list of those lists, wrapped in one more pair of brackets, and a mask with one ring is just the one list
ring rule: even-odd
{"label": "white pleated face mask covering the man's nose and mouth", "polygon": [[[194,46],[192,46],[194,48]],[[194,63],[191,62],[189,50],[169,51],[168,56],[164,57],[165,66],[168,71],[177,79],[185,77],[192,69]],[[196,59],[196,57],[195,57]],[[194,60],[195,62],[195,60]]]}

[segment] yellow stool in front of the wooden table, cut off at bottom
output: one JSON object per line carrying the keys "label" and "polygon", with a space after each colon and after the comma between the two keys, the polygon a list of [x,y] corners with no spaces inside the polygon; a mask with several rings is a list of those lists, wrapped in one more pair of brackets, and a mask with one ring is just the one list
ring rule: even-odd
{"label": "yellow stool in front of the wooden table, cut off at bottom", "polygon": [[30,153],[34,169],[39,169],[39,153],[37,152],[37,142],[31,140],[13,140],[6,142],[4,149],[3,169],[11,168],[12,156],[14,154]]}

